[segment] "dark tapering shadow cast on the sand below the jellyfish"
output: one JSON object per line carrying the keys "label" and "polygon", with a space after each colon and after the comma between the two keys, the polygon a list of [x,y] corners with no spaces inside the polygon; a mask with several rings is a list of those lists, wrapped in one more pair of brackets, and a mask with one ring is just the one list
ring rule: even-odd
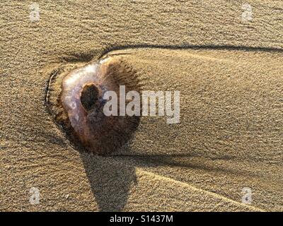
{"label": "dark tapering shadow cast on the sand below the jellyfish", "polygon": [[81,153],[81,158],[99,210],[122,211],[136,182],[134,167],[118,164],[112,157]]}

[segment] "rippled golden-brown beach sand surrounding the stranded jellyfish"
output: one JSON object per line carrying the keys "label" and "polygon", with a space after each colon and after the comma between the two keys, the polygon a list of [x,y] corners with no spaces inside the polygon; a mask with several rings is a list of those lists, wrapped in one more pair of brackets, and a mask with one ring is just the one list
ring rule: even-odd
{"label": "rippled golden-brown beach sand surrounding the stranded jellyfish", "polygon": [[[243,2],[38,1],[37,22],[29,1],[1,2],[0,210],[282,211],[283,3],[249,1],[243,21]],[[47,71],[105,54],[146,90],[180,90],[181,117],[141,117],[98,157],[69,144],[45,95]]]}

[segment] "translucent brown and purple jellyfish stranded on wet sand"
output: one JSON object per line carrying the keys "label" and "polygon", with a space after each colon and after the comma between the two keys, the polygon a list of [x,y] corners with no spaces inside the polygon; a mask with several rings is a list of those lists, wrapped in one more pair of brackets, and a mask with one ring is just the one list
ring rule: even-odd
{"label": "translucent brown and purple jellyfish stranded on wet sand", "polygon": [[[107,116],[103,112],[107,91],[140,90],[131,66],[117,57],[86,65],[62,66],[53,72],[47,91],[47,107],[71,144],[92,153],[112,153],[125,145],[139,125],[138,116]],[[130,100],[127,100],[130,101]],[[120,102],[117,102],[119,109]],[[126,103],[127,105],[127,103]]]}

